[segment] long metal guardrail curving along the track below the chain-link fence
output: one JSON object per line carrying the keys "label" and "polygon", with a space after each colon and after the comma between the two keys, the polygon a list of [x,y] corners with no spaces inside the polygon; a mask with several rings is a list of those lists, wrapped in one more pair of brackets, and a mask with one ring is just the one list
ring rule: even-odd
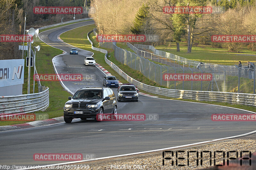
{"label": "long metal guardrail curving along the track below the chain-link fence", "polygon": [[[88,32],[87,38],[92,44],[92,41],[89,39],[89,36],[88,36],[91,32],[93,31]],[[93,50],[102,51],[102,49],[95,48],[95,47],[93,48],[92,48]],[[192,100],[198,100],[198,101],[214,101],[214,102],[225,102],[225,103],[231,103],[231,104],[256,106],[256,94],[215,92],[215,91],[174,90],[174,89],[154,87],[133,79],[132,77],[124,73],[114,63],[108,60],[106,55],[105,55],[105,61],[118,74],[124,77],[125,80],[127,80],[130,83],[133,83],[135,86],[138,86],[139,89],[148,91],[153,94],[163,95],[163,96],[168,96],[173,98],[192,99]]]}

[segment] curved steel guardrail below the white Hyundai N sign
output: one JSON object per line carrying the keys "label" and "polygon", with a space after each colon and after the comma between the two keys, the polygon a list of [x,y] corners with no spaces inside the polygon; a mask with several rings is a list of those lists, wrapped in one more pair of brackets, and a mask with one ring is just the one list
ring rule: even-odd
{"label": "curved steel guardrail below the white Hyundai N sign", "polygon": [[5,114],[24,114],[35,111],[44,111],[49,106],[49,88],[42,87],[42,92],[19,95],[0,96],[0,117]]}

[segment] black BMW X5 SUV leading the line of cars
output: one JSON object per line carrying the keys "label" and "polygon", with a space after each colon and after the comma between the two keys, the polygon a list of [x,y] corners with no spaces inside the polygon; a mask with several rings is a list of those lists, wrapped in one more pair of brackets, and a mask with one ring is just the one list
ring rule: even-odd
{"label": "black BMW X5 SUV leading the line of cars", "polygon": [[[64,106],[64,121],[71,123],[73,118],[94,118],[101,122],[104,115],[117,117],[116,96],[112,89],[84,87],[68,97]],[[97,116],[97,118],[96,118]]]}

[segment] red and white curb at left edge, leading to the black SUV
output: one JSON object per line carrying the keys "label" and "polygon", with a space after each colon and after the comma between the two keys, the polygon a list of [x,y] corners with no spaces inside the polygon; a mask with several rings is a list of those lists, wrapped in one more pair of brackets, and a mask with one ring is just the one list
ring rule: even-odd
{"label": "red and white curb at left edge, leading to the black SUV", "polygon": [[61,123],[61,122],[64,122],[63,116],[52,118],[52,119],[47,119],[47,120],[38,120],[38,121],[34,121],[34,122],[28,122],[25,124],[14,124],[14,125],[0,126],[0,132],[48,126],[48,125],[57,124],[57,123]]}

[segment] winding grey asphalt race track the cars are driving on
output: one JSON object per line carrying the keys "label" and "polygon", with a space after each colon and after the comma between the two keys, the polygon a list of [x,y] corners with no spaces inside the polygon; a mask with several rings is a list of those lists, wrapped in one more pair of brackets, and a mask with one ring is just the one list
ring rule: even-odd
{"label": "winding grey asphalt race track the cars are driving on", "polygon": [[[84,86],[102,87],[105,74],[97,67],[84,66],[84,57],[91,56],[91,52],[78,50],[78,55],[70,55],[69,50],[73,46],[61,42],[57,36],[69,29],[89,24],[93,24],[93,21],[67,25],[39,34],[47,44],[67,52],[53,59],[59,74],[93,74],[93,78],[83,81],[63,81],[73,93]],[[113,89],[116,92],[117,88]],[[31,166],[61,162],[34,161],[35,153],[82,153],[85,159],[86,154],[94,155],[91,158],[101,158],[225,138],[255,130],[254,122],[213,122],[213,113],[249,112],[210,104],[140,95],[139,102],[118,102],[117,109],[118,113],[158,115],[158,120],[98,123],[92,119],[76,119],[71,124],[60,123],[2,132],[0,164]]]}

